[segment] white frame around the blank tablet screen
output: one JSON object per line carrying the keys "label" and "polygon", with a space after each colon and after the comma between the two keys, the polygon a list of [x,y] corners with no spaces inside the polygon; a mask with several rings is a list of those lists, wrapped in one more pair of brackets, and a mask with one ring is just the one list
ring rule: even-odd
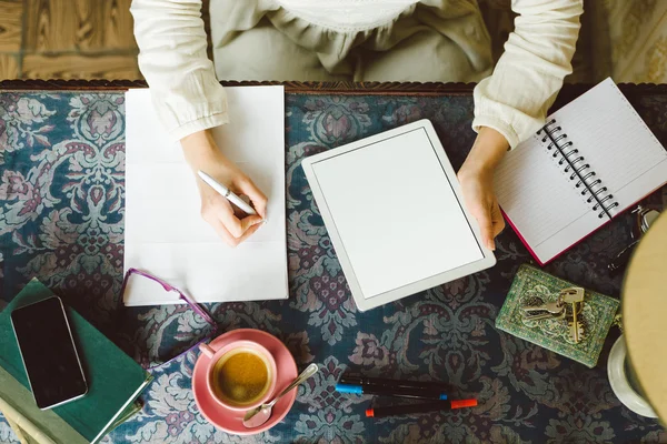
{"label": "white frame around the blank tablet screen", "polygon": [[[394,138],[394,137],[397,137],[397,135],[400,135],[400,134],[404,134],[404,133],[407,133],[407,132],[410,132],[410,131],[414,131],[417,129],[424,129],[424,131],[426,132],[426,135],[428,137],[428,139],[431,143],[431,148],[434,149],[434,151],[440,162],[440,165],[442,167],[442,171],[446,174],[447,180],[448,180],[449,184],[451,185],[451,189],[454,190],[456,199],[458,200],[458,202],[460,204],[464,215],[465,215],[466,220],[468,221],[469,226],[471,228],[471,231],[475,235],[475,240],[477,241],[477,244],[482,253],[482,259],[471,262],[469,264],[465,264],[457,269],[449,270],[447,272],[442,272],[442,273],[422,279],[417,282],[412,282],[410,284],[385,292],[382,294],[374,295],[374,296],[370,296],[369,299],[366,299],[364,296],[364,292],[361,291],[359,282],[357,280],[357,275],[355,274],[355,270],[352,269],[350,260],[346,254],[346,250],[344,248],[342,240],[340,239],[338,231],[336,231],[336,224],[334,223],[334,218],[329,211],[329,208],[327,206],[322,190],[319,188],[319,184],[317,181],[317,174],[313,169],[313,164],[326,161],[329,158],[337,157],[339,154],[344,154],[348,151],[362,149],[364,147],[367,147],[367,145],[370,145],[374,143],[378,143],[386,139],[390,139],[390,138]],[[359,309],[359,311],[364,312],[364,311],[367,311],[370,309],[375,309],[377,306],[387,304],[389,302],[397,301],[399,299],[412,295],[412,294],[421,292],[424,290],[432,289],[434,286],[438,286],[444,283],[457,280],[459,278],[464,278],[469,274],[477,273],[481,270],[486,270],[496,264],[496,256],[494,255],[494,253],[490,250],[488,250],[484,245],[484,242],[481,242],[481,235],[480,235],[480,231],[479,231],[477,221],[472,216],[470,216],[470,214],[468,213],[468,210],[466,209],[466,205],[464,204],[464,198],[461,194],[461,189],[460,189],[458,179],[456,178],[456,172],[454,171],[451,163],[449,163],[449,159],[447,158],[445,150],[442,149],[442,144],[440,143],[440,139],[438,138],[432,123],[428,119],[422,119],[417,122],[409,123],[409,124],[396,128],[394,130],[389,130],[389,131],[382,132],[380,134],[376,134],[370,138],[366,138],[366,139],[349,143],[344,147],[339,147],[339,148],[328,150],[328,151],[325,151],[325,152],[316,154],[316,155],[311,155],[301,161],[301,167],[303,168],[303,172],[306,173],[306,178],[308,179],[308,183],[310,184],[310,189],[312,190],[312,195],[315,196],[315,201],[317,202],[320,214],[325,221],[325,225],[329,233],[329,238],[331,239],[331,242],[332,242],[336,253],[338,255],[338,260],[340,261],[340,265],[341,265],[345,276],[347,279],[348,285],[350,286],[350,290],[352,292],[352,297],[355,299],[355,302],[357,303],[357,307]]]}

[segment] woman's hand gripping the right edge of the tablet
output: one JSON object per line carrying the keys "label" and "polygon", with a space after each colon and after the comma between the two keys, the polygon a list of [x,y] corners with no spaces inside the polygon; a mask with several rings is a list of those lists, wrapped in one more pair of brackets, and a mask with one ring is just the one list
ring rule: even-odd
{"label": "woman's hand gripping the right edge of the tablet", "polygon": [[496,250],[494,238],[505,228],[505,221],[494,192],[494,171],[509,148],[502,134],[491,128],[480,128],[472,149],[457,176],[470,214],[479,223],[481,240]]}

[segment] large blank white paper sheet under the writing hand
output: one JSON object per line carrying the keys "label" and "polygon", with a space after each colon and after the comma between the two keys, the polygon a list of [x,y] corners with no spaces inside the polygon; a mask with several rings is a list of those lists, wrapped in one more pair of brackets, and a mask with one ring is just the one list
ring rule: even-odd
{"label": "large blank white paper sheet under the writing hand", "polygon": [[[230,123],[213,131],[222,152],[267,194],[268,222],[236,249],[200,215],[196,179],[153,111],[150,91],[126,93],[125,270],[163,279],[199,302],[286,299],[285,92],[227,88]],[[132,280],[126,305],[177,303]]]}

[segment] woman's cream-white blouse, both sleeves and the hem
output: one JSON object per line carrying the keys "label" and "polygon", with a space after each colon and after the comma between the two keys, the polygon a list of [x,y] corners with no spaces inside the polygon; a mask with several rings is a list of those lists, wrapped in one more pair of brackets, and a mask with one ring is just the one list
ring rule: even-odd
{"label": "woman's cream-white blouse, both sleeves and the hem", "polygon": [[[367,27],[398,17],[414,1],[278,2],[299,17],[336,29],[341,23]],[[512,10],[519,14],[515,31],[509,34],[492,75],[475,88],[476,131],[490,127],[514,148],[544,124],[563,79],[571,72],[581,3],[512,0]],[[201,0],[133,0],[131,7],[139,67],[153,91],[156,110],[176,140],[229,121],[225,89],[207,57],[200,9]]]}

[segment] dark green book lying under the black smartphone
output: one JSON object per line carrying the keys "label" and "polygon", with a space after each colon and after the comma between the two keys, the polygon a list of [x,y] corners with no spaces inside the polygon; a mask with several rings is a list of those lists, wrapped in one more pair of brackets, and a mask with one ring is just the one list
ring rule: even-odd
{"label": "dark green book lying under the black smartphone", "polygon": [[[136,411],[135,400],[152,376],[74,310],[67,307],[72,334],[79,349],[88,393],[80,400],[40,411],[29,392],[28,377],[13,334],[10,313],[13,309],[49,297],[53,293],[37,279],[0,312],[0,397],[9,402],[58,443],[96,443],[119,421]],[[22,392],[18,384],[19,382]],[[28,397],[26,398],[26,395]],[[83,441],[81,441],[83,440]]]}

